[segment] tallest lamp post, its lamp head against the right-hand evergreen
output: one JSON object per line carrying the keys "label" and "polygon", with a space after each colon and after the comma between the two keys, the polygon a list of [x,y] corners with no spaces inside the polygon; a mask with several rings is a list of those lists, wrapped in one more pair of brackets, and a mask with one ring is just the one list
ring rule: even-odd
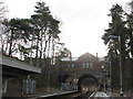
{"label": "tallest lamp post, its lamp head against the right-hand evergreen", "polygon": [[122,82],[122,51],[121,51],[121,36],[110,35],[110,38],[119,38],[120,44],[120,96],[123,96],[123,82]]}

